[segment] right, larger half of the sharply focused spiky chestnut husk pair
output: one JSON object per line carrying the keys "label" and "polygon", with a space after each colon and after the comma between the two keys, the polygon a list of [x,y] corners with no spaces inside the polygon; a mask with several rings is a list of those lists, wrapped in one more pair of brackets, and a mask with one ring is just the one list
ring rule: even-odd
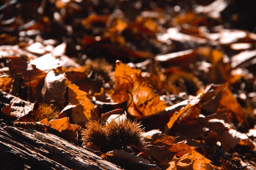
{"label": "right, larger half of the sharply focused spiky chestnut husk pair", "polygon": [[130,119],[114,119],[104,127],[107,131],[110,150],[129,150],[130,146],[145,148],[145,140],[142,136],[141,124]]}

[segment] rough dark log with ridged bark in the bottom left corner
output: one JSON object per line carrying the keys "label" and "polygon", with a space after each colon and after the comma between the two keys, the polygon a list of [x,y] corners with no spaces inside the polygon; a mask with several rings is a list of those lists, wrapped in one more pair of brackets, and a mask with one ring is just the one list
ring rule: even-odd
{"label": "rough dark log with ridged bark in the bottom left corner", "polygon": [[34,129],[0,124],[1,170],[121,170],[94,153]]}

